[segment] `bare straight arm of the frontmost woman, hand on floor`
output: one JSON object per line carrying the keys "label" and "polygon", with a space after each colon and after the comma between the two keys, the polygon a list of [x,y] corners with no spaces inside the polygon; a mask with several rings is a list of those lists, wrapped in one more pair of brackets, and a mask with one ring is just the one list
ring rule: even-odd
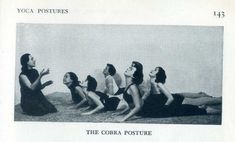
{"label": "bare straight arm of the frontmost woman, hand on floor", "polygon": [[129,89],[134,102],[134,108],[122,119],[122,121],[126,121],[141,109],[141,99],[138,88],[135,85],[132,85]]}

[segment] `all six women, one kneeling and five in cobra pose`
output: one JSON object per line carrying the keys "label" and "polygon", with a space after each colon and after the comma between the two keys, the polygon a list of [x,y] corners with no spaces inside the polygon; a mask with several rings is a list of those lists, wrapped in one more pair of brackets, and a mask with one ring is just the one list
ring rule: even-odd
{"label": "all six women, one kneeling and five in cobra pose", "polygon": [[[52,84],[52,81],[41,83],[41,78],[49,74],[49,70],[40,73],[35,67],[35,59],[30,54],[21,56],[22,72],[19,75],[21,86],[21,108],[28,115],[40,116],[57,112],[55,106],[43,95],[41,90]],[[209,105],[221,104],[221,97],[212,97],[206,93],[172,94],[166,88],[166,73],[162,67],[156,67],[149,73],[150,89],[141,89],[143,82],[143,66],[132,62],[124,72],[124,88],[119,88],[114,75],[116,69],[107,64],[103,70],[105,76],[104,92],[96,90],[97,81],[88,75],[86,81],[80,82],[73,72],[64,75],[63,83],[69,88],[73,102],[77,108],[87,106],[81,115],[91,115],[101,111],[114,111],[123,115],[120,121],[126,121],[133,116],[140,117],[170,117],[187,115],[204,115],[221,113]]]}

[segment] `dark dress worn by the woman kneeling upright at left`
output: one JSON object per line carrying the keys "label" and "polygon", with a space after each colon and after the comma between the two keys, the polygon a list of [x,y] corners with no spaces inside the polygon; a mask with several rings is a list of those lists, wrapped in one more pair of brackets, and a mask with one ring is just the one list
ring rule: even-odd
{"label": "dark dress worn by the woman kneeling upright at left", "polygon": [[[38,71],[35,69],[21,72],[20,75],[26,75],[30,83],[35,82],[38,78]],[[41,86],[41,83],[39,84]],[[52,105],[41,92],[41,88],[31,90],[20,81],[21,92],[21,108],[28,115],[40,116],[47,113],[57,112],[57,109]]]}

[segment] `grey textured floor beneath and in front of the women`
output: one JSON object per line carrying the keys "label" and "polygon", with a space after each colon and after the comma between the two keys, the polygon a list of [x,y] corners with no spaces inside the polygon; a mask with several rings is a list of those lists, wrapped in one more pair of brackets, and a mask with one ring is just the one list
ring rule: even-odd
{"label": "grey textured floor beneath and in front of the women", "polygon": [[[71,108],[71,97],[68,93],[55,92],[47,96],[58,109],[57,113],[44,116],[28,116],[22,113],[20,105],[15,106],[15,121],[43,121],[43,122],[114,122],[122,116],[113,116],[112,112],[102,112],[90,116],[81,116],[77,110]],[[154,124],[221,124],[221,115],[196,115],[169,118],[133,118],[124,123],[154,123]]]}

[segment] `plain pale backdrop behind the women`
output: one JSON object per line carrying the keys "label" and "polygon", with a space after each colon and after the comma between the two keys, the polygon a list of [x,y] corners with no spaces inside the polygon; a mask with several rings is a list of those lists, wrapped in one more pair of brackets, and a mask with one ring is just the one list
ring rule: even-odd
{"label": "plain pale backdrop behind the women", "polygon": [[16,103],[19,102],[20,56],[30,53],[36,69],[50,68],[54,84],[44,93],[68,92],[63,75],[75,72],[98,80],[106,63],[123,77],[133,60],[144,67],[145,80],[156,66],[167,73],[171,92],[205,91],[222,95],[223,27],[153,25],[17,24]]}

